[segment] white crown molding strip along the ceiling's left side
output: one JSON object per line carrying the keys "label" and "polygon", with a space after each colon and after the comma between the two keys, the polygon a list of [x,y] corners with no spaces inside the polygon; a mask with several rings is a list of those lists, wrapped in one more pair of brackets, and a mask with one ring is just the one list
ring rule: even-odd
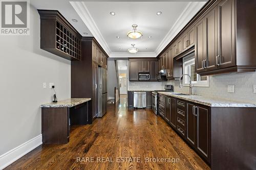
{"label": "white crown molding strip along the ceiling's left side", "polygon": [[88,8],[84,5],[83,2],[70,2],[72,7],[75,9],[77,14],[80,16],[82,21],[86,23],[86,26],[93,34],[94,38],[99,42],[103,50],[110,56],[111,50],[108,44],[106,43],[105,39],[103,38],[102,34],[99,31],[95,21],[93,20]]}

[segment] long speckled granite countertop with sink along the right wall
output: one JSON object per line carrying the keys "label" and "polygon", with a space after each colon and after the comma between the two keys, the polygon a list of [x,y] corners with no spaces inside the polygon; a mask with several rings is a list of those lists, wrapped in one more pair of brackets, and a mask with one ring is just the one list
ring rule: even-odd
{"label": "long speckled granite countertop with sink along the right wall", "polygon": [[219,98],[210,98],[207,96],[201,95],[176,95],[175,92],[159,92],[160,94],[173,96],[178,99],[183,99],[186,101],[210,106],[210,107],[256,107],[256,103],[245,103],[245,102],[237,102],[232,100],[226,99],[219,99]]}

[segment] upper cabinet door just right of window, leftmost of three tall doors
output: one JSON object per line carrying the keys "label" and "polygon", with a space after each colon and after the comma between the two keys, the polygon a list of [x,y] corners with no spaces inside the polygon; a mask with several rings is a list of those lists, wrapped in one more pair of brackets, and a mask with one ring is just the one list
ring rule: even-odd
{"label": "upper cabinet door just right of window, leftmost of three tall doors", "polygon": [[196,72],[204,70],[204,60],[206,60],[206,28],[205,19],[201,19],[196,24],[196,44],[195,44],[195,63]]}

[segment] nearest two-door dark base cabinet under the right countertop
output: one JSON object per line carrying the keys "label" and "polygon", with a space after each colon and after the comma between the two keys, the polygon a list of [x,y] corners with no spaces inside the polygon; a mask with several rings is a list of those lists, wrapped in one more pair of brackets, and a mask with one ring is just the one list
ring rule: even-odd
{"label": "nearest two-door dark base cabinet under the right countertop", "polygon": [[210,161],[209,117],[209,107],[187,103],[187,142],[207,161]]}

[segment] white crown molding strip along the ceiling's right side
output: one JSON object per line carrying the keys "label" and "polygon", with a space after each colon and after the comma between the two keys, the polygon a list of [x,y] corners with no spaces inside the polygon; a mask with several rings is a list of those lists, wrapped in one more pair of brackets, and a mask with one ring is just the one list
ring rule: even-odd
{"label": "white crown molding strip along the ceiling's right side", "polygon": [[193,18],[196,13],[203,7],[205,2],[190,2],[180,14],[174,26],[169,30],[166,36],[163,38],[161,43],[156,48],[156,55],[159,55],[163,49],[172,41],[175,36],[185,27],[191,18]]}

